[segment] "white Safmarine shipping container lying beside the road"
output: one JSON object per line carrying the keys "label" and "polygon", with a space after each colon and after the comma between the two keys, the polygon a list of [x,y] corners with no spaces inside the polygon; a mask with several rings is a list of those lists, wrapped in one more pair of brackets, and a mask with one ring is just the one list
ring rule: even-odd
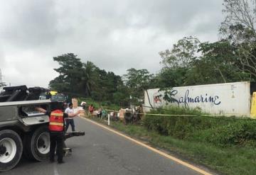
{"label": "white Safmarine shipping container lying beside the road", "polygon": [[[198,107],[212,114],[250,116],[249,81],[174,87],[171,90],[171,103],[164,101],[164,91],[159,89],[149,89],[148,94],[149,98],[146,91],[144,92],[144,105],[150,106],[151,103],[154,108],[166,105]],[[144,110],[149,111],[150,108]]]}

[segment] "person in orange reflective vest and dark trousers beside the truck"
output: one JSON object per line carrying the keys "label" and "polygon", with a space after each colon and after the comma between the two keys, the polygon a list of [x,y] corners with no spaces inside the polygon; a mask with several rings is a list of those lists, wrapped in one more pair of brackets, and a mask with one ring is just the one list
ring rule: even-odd
{"label": "person in orange reflective vest and dark trousers beside the truck", "polygon": [[73,118],[80,113],[63,113],[63,103],[52,102],[51,111],[36,107],[36,110],[49,115],[50,131],[50,162],[54,162],[55,151],[58,156],[58,163],[63,162],[63,143],[64,143],[64,118]]}

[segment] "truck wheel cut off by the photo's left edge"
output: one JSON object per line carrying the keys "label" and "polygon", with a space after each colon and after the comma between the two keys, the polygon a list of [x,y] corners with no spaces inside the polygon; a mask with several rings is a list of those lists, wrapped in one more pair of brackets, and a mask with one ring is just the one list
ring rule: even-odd
{"label": "truck wheel cut off by the photo's left edge", "polygon": [[13,130],[0,131],[0,171],[13,169],[21,159],[21,137]]}

